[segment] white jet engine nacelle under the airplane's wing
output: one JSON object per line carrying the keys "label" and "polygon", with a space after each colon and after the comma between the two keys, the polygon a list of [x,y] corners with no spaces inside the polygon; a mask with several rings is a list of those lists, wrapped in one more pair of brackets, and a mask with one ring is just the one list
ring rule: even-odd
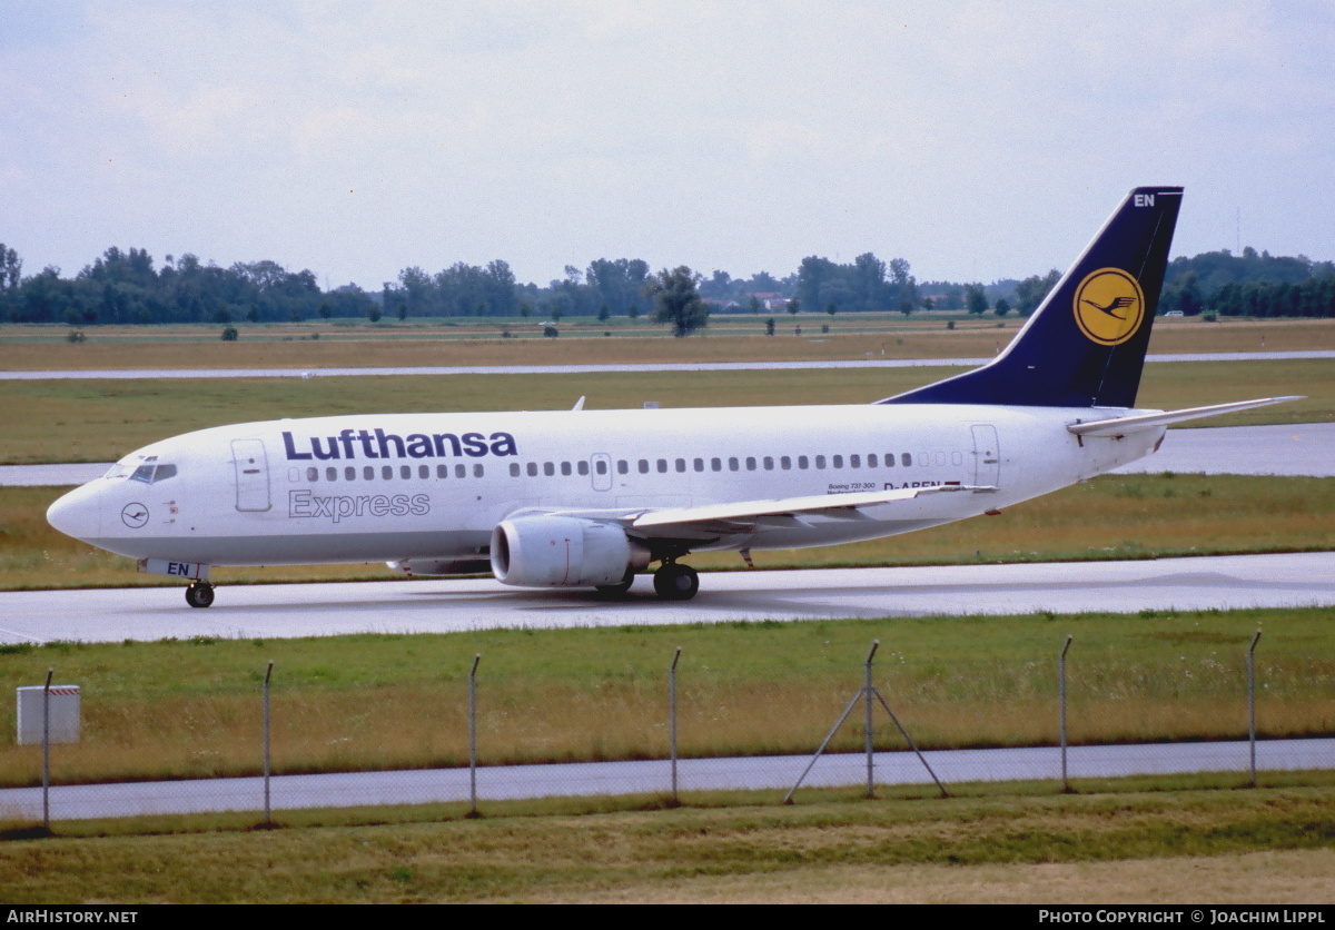
{"label": "white jet engine nacelle under the airplane's wing", "polygon": [[649,550],[611,523],[573,516],[521,516],[491,531],[491,572],[505,584],[618,584],[649,564]]}

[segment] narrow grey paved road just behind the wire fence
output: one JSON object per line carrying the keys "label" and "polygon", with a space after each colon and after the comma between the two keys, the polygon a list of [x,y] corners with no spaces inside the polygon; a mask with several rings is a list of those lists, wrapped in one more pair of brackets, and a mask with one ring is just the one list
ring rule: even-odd
{"label": "narrow grey paved road just behind the wire fence", "polygon": [[[59,747],[55,751],[59,753]],[[1061,778],[1061,755],[1056,747],[940,750],[924,753],[924,757],[947,790],[961,782]],[[876,753],[873,759],[877,785],[932,783],[932,777],[912,753]],[[810,761],[809,755],[682,759],[677,763],[677,783],[681,791],[772,789],[786,793],[797,783]],[[1330,769],[1332,763],[1335,739],[1256,743],[1259,771]],[[1248,770],[1250,747],[1246,742],[1077,746],[1068,755],[1072,779]],[[865,783],[866,755],[846,753],[821,757],[802,786]],[[271,779],[270,790],[274,810],[466,802],[470,797],[467,769],[283,775]],[[479,802],[670,791],[672,769],[668,761],[478,769]],[[794,798],[801,801],[801,791]],[[57,786],[51,791],[53,821],[263,809],[263,778],[71,785]],[[41,789],[0,790],[0,819],[40,821]]]}

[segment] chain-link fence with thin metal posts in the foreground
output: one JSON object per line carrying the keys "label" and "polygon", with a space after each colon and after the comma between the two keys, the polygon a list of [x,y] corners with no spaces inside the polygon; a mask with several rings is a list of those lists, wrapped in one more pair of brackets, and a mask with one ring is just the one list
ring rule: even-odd
{"label": "chain-link fence with thin metal posts in the foreground", "polygon": [[[16,723],[33,733],[41,709],[43,739],[0,750],[0,821],[206,811],[268,821],[294,809],[426,803],[478,813],[526,798],[674,803],[753,790],[800,801],[816,786],[1072,790],[1080,779],[1188,773],[1255,785],[1258,771],[1335,767],[1330,662],[1267,664],[1259,639],[1189,660],[1163,650],[1147,663],[1083,658],[1065,636],[1023,667],[992,670],[873,643],[833,675],[805,674],[793,656],[798,674],[778,687],[693,664],[681,648],[653,668],[585,674],[578,687],[561,675],[489,676],[479,654],[466,674],[427,688],[330,692],[308,674],[284,687],[270,662],[247,675],[248,696],[180,701],[162,709],[159,729],[117,731],[123,709],[100,713],[85,694],[96,726],[79,743],[55,743],[49,696],[29,699]],[[154,777],[164,770],[178,777]]]}

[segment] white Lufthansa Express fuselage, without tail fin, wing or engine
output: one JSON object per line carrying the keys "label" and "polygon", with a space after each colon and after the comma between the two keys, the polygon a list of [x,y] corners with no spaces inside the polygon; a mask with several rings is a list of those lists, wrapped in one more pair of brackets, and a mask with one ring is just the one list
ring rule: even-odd
{"label": "white Lufthansa Express fuselage, without tail fin, wing or engine", "polygon": [[519,512],[996,488],[866,507],[856,519],[772,516],[686,540],[692,550],[828,546],[973,516],[1139,459],[1161,427],[1083,440],[1065,428],[1129,412],[865,404],[271,420],[147,446],[49,518],[139,559],[409,562],[485,559],[493,528]]}

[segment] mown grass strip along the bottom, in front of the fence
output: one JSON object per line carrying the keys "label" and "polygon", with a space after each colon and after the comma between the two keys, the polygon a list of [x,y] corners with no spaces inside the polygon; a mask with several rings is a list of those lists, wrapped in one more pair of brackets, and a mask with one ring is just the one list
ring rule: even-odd
{"label": "mown grass strip along the bottom, in front of the fence", "polygon": [[1218,787],[306,826],[315,815],[254,833],[163,825],[0,842],[0,899],[1328,905],[1331,779]]}

